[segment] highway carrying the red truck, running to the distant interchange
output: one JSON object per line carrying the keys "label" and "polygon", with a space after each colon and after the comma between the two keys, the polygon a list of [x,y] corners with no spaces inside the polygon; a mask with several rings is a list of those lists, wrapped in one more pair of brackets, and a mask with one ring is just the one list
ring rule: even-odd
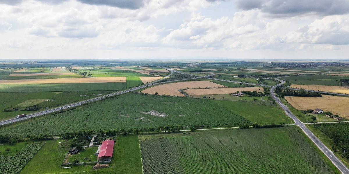
{"label": "highway carrying the red truck, running to the distant interchange", "polygon": [[[164,67],[161,67],[161,68],[164,68]],[[153,86],[153,85],[157,85],[159,81],[165,79],[165,78],[168,78],[170,77],[173,72],[177,72],[177,73],[180,73],[180,74],[185,74],[185,73],[182,73],[182,72],[179,72],[179,71],[176,71],[176,70],[172,70],[170,68],[164,68],[164,69],[167,69],[170,71],[170,74],[162,79],[158,79],[158,80],[155,80],[155,81],[152,81],[152,82],[149,82],[147,84],[144,84],[144,85],[141,85],[141,86],[138,86],[138,87],[134,87],[134,88],[131,88],[131,89],[127,89],[127,90],[122,90],[120,92],[116,92],[116,93],[111,93],[111,94],[107,94],[107,95],[103,95],[103,96],[99,96],[99,97],[96,97],[96,98],[90,98],[88,100],[83,100],[83,101],[80,101],[80,102],[75,102],[75,103],[71,103],[71,104],[66,104],[66,105],[62,105],[60,106],[59,108],[53,108],[53,109],[48,109],[48,110],[44,110],[44,111],[40,111],[40,112],[36,112],[36,113],[31,113],[31,114],[27,114],[26,117],[22,117],[22,118],[12,118],[12,119],[8,119],[8,120],[3,120],[3,121],[0,121],[0,125],[5,125],[5,124],[10,124],[10,123],[14,123],[14,122],[17,122],[17,121],[21,121],[21,120],[26,120],[26,119],[30,119],[31,117],[38,117],[38,116],[42,116],[44,114],[51,114],[52,112],[57,112],[59,111],[61,108],[62,109],[69,109],[69,108],[74,108],[75,106],[80,106],[81,104],[84,104],[86,102],[94,102],[94,101],[98,101],[98,100],[102,100],[104,99],[105,97],[111,97],[111,96],[114,96],[114,95],[120,95],[120,94],[125,94],[125,93],[128,93],[128,92],[132,92],[132,91],[135,91],[135,90],[139,90],[139,89],[142,89],[142,88],[145,88],[147,85],[148,86]],[[198,78],[209,78],[211,76],[214,76],[215,74],[209,74],[207,76],[204,76],[204,77],[195,77],[195,78],[191,78],[191,79],[198,79]],[[192,76],[192,75],[191,75]],[[181,80],[189,80],[189,79],[181,79]],[[165,81],[165,82],[162,82],[162,83],[169,83],[169,82],[175,82],[175,81],[181,81],[181,80],[172,80],[172,81]],[[70,106],[68,108],[68,106]]]}

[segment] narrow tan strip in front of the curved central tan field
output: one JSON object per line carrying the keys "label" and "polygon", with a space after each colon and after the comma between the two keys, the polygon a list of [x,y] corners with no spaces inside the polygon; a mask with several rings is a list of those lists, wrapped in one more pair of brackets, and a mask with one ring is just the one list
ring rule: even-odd
{"label": "narrow tan strip in front of the curved central tan field", "polygon": [[205,94],[230,94],[241,91],[257,91],[264,92],[261,87],[246,87],[246,88],[210,88],[210,89],[186,89],[188,95],[205,95]]}

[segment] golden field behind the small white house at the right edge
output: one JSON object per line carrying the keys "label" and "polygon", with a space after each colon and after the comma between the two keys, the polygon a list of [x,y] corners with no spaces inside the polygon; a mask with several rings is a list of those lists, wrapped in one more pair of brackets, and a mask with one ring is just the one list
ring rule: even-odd
{"label": "golden field behind the small white house at the right edge", "polygon": [[322,97],[284,97],[294,108],[308,110],[320,108],[341,117],[349,118],[349,97],[322,95]]}

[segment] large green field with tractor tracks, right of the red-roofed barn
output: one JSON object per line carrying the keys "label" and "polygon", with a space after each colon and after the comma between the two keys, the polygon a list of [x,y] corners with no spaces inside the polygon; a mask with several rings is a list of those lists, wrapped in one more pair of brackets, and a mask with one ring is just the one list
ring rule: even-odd
{"label": "large green field with tractor tracks, right of the red-roofed barn", "polygon": [[144,173],[335,173],[298,131],[283,127],[142,135]]}

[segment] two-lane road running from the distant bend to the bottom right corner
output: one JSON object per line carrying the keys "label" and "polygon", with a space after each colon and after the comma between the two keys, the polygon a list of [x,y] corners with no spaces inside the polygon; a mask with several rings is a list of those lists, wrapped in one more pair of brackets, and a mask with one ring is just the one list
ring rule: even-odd
{"label": "two-lane road running from the distant bend to the bottom right corner", "polygon": [[329,150],[306,126],[303,122],[301,122],[290,110],[289,108],[284,105],[280,98],[277,97],[277,95],[275,94],[275,88],[278,86],[281,86],[282,84],[284,84],[285,81],[280,80],[278,78],[275,78],[276,80],[279,80],[281,83],[273,86],[270,89],[270,94],[273,96],[273,98],[275,99],[276,103],[279,104],[279,106],[281,106],[281,108],[286,112],[287,116],[289,116],[290,118],[292,118],[295,121],[294,125],[299,126],[303,132],[317,145],[317,147],[325,153],[325,155],[327,156],[327,158],[329,160],[332,161],[332,163],[343,173],[343,174],[349,174],[349,170],[346,166],[344,166],[344,164],[334,155],[334,153]]}

